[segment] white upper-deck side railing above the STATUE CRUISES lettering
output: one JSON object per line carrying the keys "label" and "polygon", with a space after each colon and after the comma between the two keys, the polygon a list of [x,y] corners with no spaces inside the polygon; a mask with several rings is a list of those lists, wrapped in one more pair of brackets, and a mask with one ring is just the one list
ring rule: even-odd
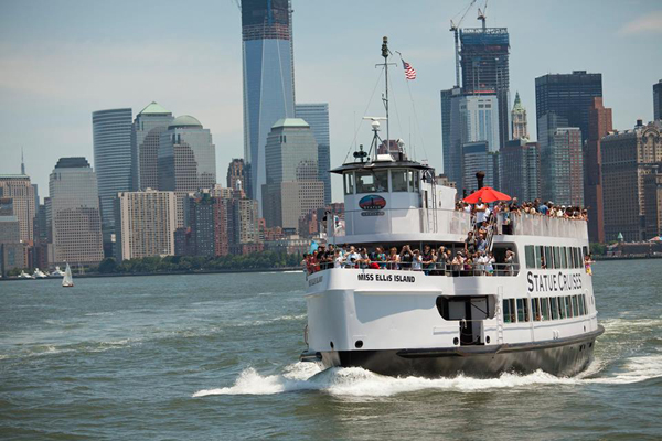
{"label": "white upper-deck side railing above the STATUE CRUISES lettering", "polygon": [[567,219],[526,213],[499,213],[496,225],[504,235],[586,238],[584,219]]}

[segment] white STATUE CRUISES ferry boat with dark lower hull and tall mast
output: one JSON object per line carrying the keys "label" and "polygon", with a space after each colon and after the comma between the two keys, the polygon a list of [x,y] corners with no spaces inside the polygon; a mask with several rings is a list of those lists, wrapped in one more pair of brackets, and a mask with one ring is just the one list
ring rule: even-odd
{"label": "white STATUE CRUISES ferry boat with dark lower hull and tall mast", "polygon": [[[387,114],[387,89],[385,104]],[[378,120],[372,129],[367,158],[356,152],[354,162],[331,171],[343,179],[344,228],[328,219],[328,243],[369,251],[444,246],[455,256],[472,229],[471,215],[455,209],[456,189],[402,151],[376,154]],[[392,376],[586,369],[604,332],[584,267],[587,223],[502,213],[487,239],[493,275],[402,265],[308,272],[308,348],[300,359]],[[505,263],[508,250],[514,258]]]}

